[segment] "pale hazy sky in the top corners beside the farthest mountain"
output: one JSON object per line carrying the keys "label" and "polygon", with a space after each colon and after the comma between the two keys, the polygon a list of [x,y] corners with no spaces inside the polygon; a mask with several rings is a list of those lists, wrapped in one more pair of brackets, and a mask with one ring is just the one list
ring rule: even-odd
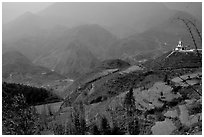
{"label": "pale hazy sky in the top corners beside the farthest mountain", "polygon": [[[53,3],[51,2],[3,2],[3,7],[2,7],[3,23],[9,22],[27,11],[36,13],[51,4]],[[170,9],[186,10],[187,8],[189,8],[190,3],[171,2],[171,3],[164,3],[164,4]],[[202,5],[200,4],[200,6]]]}

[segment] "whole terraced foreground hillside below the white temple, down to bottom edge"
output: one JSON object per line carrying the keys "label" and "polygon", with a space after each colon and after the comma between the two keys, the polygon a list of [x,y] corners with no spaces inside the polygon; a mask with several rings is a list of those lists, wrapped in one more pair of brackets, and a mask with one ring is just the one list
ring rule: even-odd
{"label": "whole terraced foreground hillside below the white temple, down to bottom edge", "polygon": [[[183,53],[168,55],[155,60],[166,63],[167,68],[172,60],[182,60],[187,65],[190,59],[198,59],[194,54],[191,58]],[[170,71],[155,68],[145,64],[131,66],[122,60],[104,61],[65,88],[62,102],[36,107],[42,115],[40,134],[75,134],[79,129],[80,134],[95,134],[93,127],[100,129],[98,134],[132,134],[129,126],[135,120],[135,134],[201,134],[201,62],[171,67]],[[131,91],[134,117],[128,116],[125,104]],[[110,128],[107,133],[101,127],[104,118]]]}

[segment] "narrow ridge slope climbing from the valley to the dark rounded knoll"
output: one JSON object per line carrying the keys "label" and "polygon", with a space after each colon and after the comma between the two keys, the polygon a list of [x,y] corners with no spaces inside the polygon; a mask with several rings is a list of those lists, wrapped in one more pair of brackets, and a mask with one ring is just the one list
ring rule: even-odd
{"label": "narrow ridge slope climbing from the valley to the dark rounded knoll", "polygon": [[[106,78],[112,74],[117,73],[120,70],[124,70],[129,67],[129,64],[125,61],[116,59],[116,60],[105,60],[102,63],[98,63],[97,66],[91,70],[89,73],[83,74],[81,77],[76,79],[72,85],[70,85],[67,89],[64,90],[64,97],[73,93],[71,96],[74,96],[72,100],[76,99],[79,94],[81,94],[81,90],[86,88],[90,89],[90,85],[92,82],[100,81],[100,79]],[[76,92],[74,92],[76,90]],[[72,102],[72,101],[71,101]]]}

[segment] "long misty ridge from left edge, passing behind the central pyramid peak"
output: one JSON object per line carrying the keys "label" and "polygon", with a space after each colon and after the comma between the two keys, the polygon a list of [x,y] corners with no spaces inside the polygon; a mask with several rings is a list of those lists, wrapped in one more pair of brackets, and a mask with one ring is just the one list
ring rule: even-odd
{"label": "long misty ridge from left edge, passing behind the central pyramid peak", "polygon": [[[9,37],[15,34],[15,32],[9,32],[8,34],[10,33]],[[84,46],[88,46],[98,58],[105,58],[106,51],[117,40],[116,36],[96,24],[81,25],[72,29],[58,25],[49,30],[37,32],[30,30],[27,33],[31,35],[22,35],[22,38],[16,38],[17,40],[8,38],[3,33],[6,37],[3,39],[4,45],[6,45],[3,50],[8,49],[8,47],[16,48],[29,59],[36,60],[36,57],[48,54],[50,50],[65,47],[71,41],[77,40],[83,43]],[[20,34],[18,36],[21,37]]]}

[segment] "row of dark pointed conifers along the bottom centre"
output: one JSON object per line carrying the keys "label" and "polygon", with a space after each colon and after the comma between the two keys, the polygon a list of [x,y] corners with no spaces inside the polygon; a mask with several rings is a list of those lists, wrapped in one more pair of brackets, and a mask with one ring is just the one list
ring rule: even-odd
{"label": "row of dark pointed conifers along the bottom centre", "polygon": [[[124,124],[110,124],[105,116],[99,116],[94,122],[87,122],[85,118],[84,104],[79,102],[72,108],[71,121],[65,125],[55,125],[54,134],[67,135],[139,135],[144,134],[144,125],[138,118],[139,110],[136,109],[133,88],[126,94],[123,103]],[[112,120],[113,122],[114,120]],[[89,124],[88,124],[89,123]],[[144,122],[143,122],[144,123]]]}

